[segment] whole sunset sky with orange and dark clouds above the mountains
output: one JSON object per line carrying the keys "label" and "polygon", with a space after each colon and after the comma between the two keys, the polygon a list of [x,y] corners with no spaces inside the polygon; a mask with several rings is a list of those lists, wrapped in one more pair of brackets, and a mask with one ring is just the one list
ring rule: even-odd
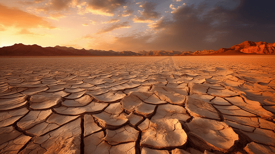
{"label": "whole sunset sky with orange and dark clouds above the mountains", "polygon": [[272,1],[0,0],[0,47],[218,50],[275,42]]}

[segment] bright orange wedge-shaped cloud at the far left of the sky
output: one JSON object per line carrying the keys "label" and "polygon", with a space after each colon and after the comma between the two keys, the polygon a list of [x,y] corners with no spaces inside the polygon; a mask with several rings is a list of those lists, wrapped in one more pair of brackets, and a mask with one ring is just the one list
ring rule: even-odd
{"label": "bright orange wedge-shaped cloud at the far left of the sky", "polygon": [[9,8],[0,4],[0,24],[4,27],[16,28],[48,28],[54,29],[45,18],[24,12],[17,8]]}

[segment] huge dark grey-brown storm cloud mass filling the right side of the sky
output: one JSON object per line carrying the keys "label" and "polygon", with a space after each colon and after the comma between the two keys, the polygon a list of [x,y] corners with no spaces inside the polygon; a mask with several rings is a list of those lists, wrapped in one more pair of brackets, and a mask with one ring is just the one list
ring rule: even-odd
{"label": "huge dark grey-brown storm cloud mass filling the right side of the sky", "polygon": [[246,40],[273,43],[274,11],[272,7],[262,6],[256,11],[260,14],[254,13],[256,6],[250,1],[242,1],[233,9],[221,4],[182,5],[170,14],[172,17],[163,17],[148,25],[152,30],[158,30],[157,34],[119,36],[114,45],[105,45],[107,48],[114,47],[113,50],[121,50],[119,45],[123,45],[132,51],[196,51],[229,48]]}

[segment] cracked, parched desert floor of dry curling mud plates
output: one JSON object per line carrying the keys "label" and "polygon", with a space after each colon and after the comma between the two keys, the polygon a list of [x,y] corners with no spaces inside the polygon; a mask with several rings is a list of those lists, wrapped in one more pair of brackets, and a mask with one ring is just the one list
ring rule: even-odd
{"label": "cracked, parched desert floor of dry curling mud plates", "polygon": [[0,153],[274,153],[275,56],[0,59]]}

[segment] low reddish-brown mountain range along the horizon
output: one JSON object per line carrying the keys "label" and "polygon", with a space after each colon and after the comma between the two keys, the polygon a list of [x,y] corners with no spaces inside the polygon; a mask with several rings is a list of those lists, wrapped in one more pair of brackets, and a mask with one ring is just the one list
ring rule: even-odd
{"label": "low reddish-brown mountain range along the horizon", "polygon": [[41,47],[39,45],[14,44],[0,48],[0,56],[186,56],[186,55],[250,55],[250,54],[275,54],[275,43],[245,41],[230,48],[215,50],[192,51],[121,51],[113,50],[86,50],[72,47]]}

